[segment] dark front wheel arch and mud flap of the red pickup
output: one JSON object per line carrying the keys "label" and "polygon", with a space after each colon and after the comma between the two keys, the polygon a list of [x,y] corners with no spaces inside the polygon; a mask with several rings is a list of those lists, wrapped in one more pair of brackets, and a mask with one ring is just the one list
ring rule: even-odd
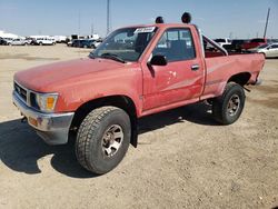
{"label": "dark front wheel arch and mud flap of the red pickup", "polygon": [[137,139],[138,139],[138,130],[137,130],[137,107],[131,98],[127,96],[109,96],[103,97],[95,100],[90,100],[83,104],[81,104],[75,112],[75,117],[71,122],[71,130],[77,130],[78,127],[81,125],[82,120],[93,109],[103,107],[103,106],[115,106],[125,110],[129,117],[131,122],[131,139],[130,143],[133,147],[137,147]]}

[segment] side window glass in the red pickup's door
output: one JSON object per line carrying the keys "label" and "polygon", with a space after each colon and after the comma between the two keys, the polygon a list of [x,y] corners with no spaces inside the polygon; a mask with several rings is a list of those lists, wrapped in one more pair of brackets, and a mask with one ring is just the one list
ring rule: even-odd
{"label": "side window glass in the red pickup's door", "polygon": [[161,54],[169,62],[196,58],[192,36],[189,29],[169,29],[158,41],[152,56]]}

